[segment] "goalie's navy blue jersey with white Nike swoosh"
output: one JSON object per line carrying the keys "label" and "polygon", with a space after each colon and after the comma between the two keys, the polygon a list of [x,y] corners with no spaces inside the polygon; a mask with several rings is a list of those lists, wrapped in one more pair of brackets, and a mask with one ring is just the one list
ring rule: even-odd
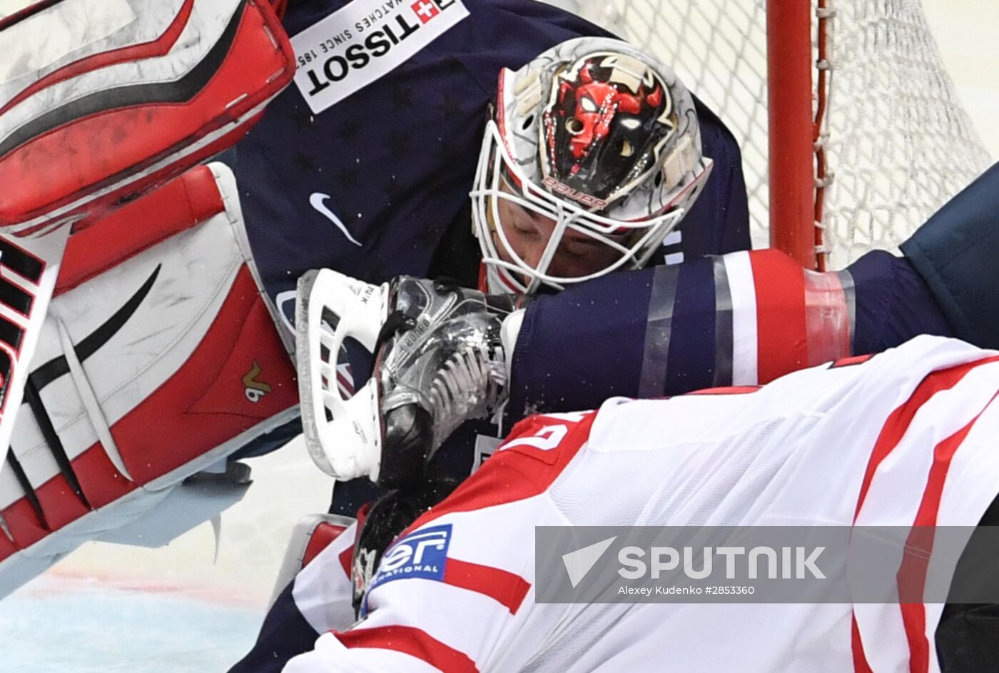
{"label": "goalie's navy blue jersey with white Nike swoosh", "polygon": [[[500,68],[519,68],[567,39],[607,35],[532,0],[436,0],[438,15],[426,24],[377,19],[387,16],[378,7],[361,20],[329,24],[332,13],[363,1],[372,4],[291,4],[284,24],[297,52],[304,50],[299,77],[306,76],[305,89],[293,85],[278,96],[236,149],[250,242],[264,285],[280,304],[303,272],[323,267],[372,283],[408,274],[448,276],[474,287],[480,252],[468,194]],[[410,8],[398,0],[374,4]],[[422,31],[462,7],[467,16],[381,78],[319,113],[310,107],[307,95],[328,93],[321,88],[329,77],[345,72],[338,38],[358,38],[359,29],[371,38],[375,51],[352,52],[357,63],[368,60],[350,75],[365,76],[365,69],[395,63],[404,46],[426,42]],[[331,37],[300,37],[316,26]],[[372,56],[392,44],[385,42],[389,33],[399,44]],[[703,152],[714,170],[681,233],[662,249],[671,260],[679,259],[676,253],[695,259],[749,247],[738,146],[713,113],[700,103],[697,110]],[[653,260],[661,262],[661,256]]]}

